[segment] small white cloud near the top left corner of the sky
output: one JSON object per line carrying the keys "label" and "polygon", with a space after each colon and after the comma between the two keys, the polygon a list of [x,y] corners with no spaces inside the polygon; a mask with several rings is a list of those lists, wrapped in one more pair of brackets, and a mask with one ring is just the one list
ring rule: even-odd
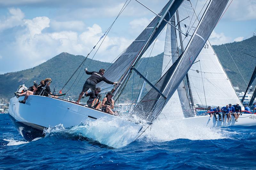
{"label": "small white cloud near the top left corner of the sky", "polygon": [[10,8],[7,17],[0,20],[0,31],[22,24],[25,14],[19,8]]}

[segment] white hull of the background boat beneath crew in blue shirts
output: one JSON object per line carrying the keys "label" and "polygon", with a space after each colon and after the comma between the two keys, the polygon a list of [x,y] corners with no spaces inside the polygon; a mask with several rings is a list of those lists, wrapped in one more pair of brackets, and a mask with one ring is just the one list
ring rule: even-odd
{"label": "white hull of the background boat beneath crew in blue shirts", "polygon": [[[175,120],[173,123],[185,123],[185,124],[191,124],[191,125],[198,125],[198,126],[207,126],[207,127],[225,127],[225,126],[256,126],[256,115],[254,114],[243,114],[240,115],[238,118],[238,122],[235,121],[234,116],[232,116],[232,119],[230,122],[227,122],[227,115],[225,116],[225,122],[222,121],[216,121],[214,116],[212,116],[212,119],[209,119],[210,116],[197,116],[197,117],[189,117],[184,118],[180,120]],[[217,115],[217,118],[219,120],[219,116]],[[223,119],[223,118],[221,118]]]}

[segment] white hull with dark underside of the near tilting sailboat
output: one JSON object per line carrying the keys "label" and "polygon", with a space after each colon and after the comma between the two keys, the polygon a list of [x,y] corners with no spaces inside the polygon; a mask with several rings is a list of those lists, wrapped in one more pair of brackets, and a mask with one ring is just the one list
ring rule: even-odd
{"label": "white hull with dark underside of the near tilting sailboat", "polygon": [[10,100],[9,115],[16,129],[28,141],[36,137],[44,137],[44,128],[54,127],[59,124],[69,128],[77,126],[81,122],[97,121],[97,119],[104,119],[104,121],[114,119],[119,126],[131,126],[138,130],[137,137],[143,127],[140,123],[125,120],[66,100],[29,95],[26,104],[19,103],[19,100],[23,98],[17,99],[13,97]]}

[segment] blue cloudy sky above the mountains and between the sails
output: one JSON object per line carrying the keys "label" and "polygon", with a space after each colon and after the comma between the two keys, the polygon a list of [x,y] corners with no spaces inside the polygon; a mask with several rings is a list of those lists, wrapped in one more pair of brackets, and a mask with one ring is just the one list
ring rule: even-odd
{"label": "blue cloudy sky above the mountains and between the sails", "polygon": [[[141,2],[158,13],[167,0]],[[1,0],[0,73],[34,67],[61,52],[87,55],[124,3],[125,0]],[[191,0],[191,3],[199,14],[206,0]],[[154,13],[132,0],[94,59],[111,62],[154,17]],[[251,37],[255,29],[256,0],[233,0],[209,41],[212,45],[242,41]],[[164,33],[157,40],[152,56],[163,51],[163,44]]]}

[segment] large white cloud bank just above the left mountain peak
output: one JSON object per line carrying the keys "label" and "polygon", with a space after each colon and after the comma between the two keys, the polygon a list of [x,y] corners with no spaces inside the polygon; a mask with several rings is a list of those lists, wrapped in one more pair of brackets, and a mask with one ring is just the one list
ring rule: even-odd
{"label": "large white cloud bank just above the left mountain peak", "polygon": [[[76,31],[43,32],[45,28],[52,26],[50,21],[47,17],[23,19],[22,30],[16,33],[15,41],[1,49],[1,51],[8,53],[12,60],[20,61],[15,69],[24,70],[34,67],[61,52],[87,55],[104,34],[97,24],[87,27],[81,34]],[[75,23],[82,24],[81,22]],[[61,22],[57,24],[61,24]],[[131,42],[132,40],[127,40],[124,37],[107,36],[94,59],[110,62]],[[99,44],[89,57],[93,56]],[[1,71],[4,72],[2,69]]]}

